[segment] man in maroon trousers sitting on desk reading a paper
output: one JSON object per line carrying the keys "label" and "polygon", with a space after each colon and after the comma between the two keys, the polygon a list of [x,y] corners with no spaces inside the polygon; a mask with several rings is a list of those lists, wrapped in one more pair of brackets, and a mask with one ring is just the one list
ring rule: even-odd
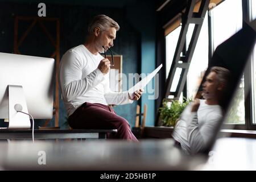
{"label": "man in maroon trousers sitting on desk reading a paper", "polygon": [[73,129],[117,129],[117,134],[108,138],[137,141],[126,119],[108,106],[129,104],[142,95],[142,90],[137,90],[131,98],[127,92],[112,92],[109,88],[110,61],[99,52],[113,46],[118,30],[117,22],[108,16],[92,19],[86,42],[69,49],[61,59],[61,91]]}

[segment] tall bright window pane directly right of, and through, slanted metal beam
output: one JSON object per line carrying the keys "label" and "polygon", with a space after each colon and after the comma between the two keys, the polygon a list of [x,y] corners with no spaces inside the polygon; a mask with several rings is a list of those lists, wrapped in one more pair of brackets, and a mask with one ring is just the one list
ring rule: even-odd
{"label": "tall bright window pane directly right of, and through, slanted metal beam", "polygon": [[[195,98],[197,89],[203,79],[205,69],[208,67],[208,18],[204,18],[204,23],[200,31],[199,38],[197,40],[196,48],[193,53],[191,64],[189,65],[187,75],[187,96],[188,98]],[[195,24],[191,24],[188,27],[187,32],[187,49],[191,36],[193,34],[193,28]]]}

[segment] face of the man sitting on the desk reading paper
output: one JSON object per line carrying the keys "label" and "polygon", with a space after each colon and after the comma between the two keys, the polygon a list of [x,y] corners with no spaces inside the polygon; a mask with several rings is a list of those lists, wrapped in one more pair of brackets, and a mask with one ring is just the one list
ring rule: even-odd
{"label": "face of the man sitting on the desk reading paper", "polygon": [[115,30],[114,27],[108,28],[105,31],[100,31],[96,38],[96,48],[98,49],[98,52],[104,52],[104,48],[102,46],[104,46],[106,50],[114,46],[113,42],[115,40],[116,33],[117,30]]}

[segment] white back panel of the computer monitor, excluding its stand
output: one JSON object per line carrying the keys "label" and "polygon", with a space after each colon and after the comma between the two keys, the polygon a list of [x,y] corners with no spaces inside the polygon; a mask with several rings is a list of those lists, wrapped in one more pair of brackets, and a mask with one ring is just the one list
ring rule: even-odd
{"label": "white back panel of the computer monitor, excluding its stand", "polygon": [[23,88],[28,113],[51,119],[54,59],[0,52],[0,118],[9,118],[9,86]]}

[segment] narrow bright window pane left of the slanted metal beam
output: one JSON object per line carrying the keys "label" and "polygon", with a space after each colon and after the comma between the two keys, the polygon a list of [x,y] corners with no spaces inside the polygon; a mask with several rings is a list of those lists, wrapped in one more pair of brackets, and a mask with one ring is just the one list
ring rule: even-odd
{"label": "narrow bright window pane left of the slanted metal beam", "polygon": [[166,78],[169,75],[172,59],[174,59],[174,53],[179,39],[181,26],[177,27],[174,31],[166,36]]}

